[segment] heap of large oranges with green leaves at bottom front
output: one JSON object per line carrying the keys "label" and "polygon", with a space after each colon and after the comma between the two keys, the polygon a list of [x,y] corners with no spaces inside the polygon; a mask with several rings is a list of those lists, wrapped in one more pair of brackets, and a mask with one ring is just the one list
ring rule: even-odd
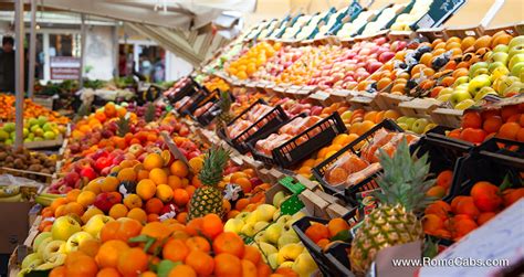
{"label": "heap of large oranges with green leaves at bottom front", "polygon": [[[153,242],[146,244],[146,241]],[[175,220],[142,225],[136,220],[113,221],[101,230],[99,239],[81,242],[63,266],[50,276],[297,276],[291,268],[274,275],[255,246],[223,232],[216,214],[187,225]]]}

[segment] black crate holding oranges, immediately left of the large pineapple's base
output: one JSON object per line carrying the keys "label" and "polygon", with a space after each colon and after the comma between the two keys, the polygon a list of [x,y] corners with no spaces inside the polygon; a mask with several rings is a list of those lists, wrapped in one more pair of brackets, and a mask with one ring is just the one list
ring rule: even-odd
{"label": "black crate holding oranges, immediately left of the large pineapple's base", "polygon": [[[357,223],[358,219],[356,216],[357,216],[357,209],[353,209],[347,214],[345,214],[343,219],[349,223]],[[296,235],[298,235],[298,237],[302,241],[302,244],[304,244],[307,252],[310,252],[311,256],[313,257],[316,265],[318,266],[318,269],[324,276],[344,276],[344,275],[339,275],[339,270],[336,268],[334,264],[331,263],[331,260],[326,256],[326,253],[324,253],[323,249],[318,245],[316,245],[312,239],[310,239],[310,237],[306,236],[305,232],[312,225],[312,222],[319,223],[319,224],[327,224],[329,221],[325,219],[319,219],[319,217],[304,216],[301,220],[293,223],[293,230],[295,231]],[[353,225],[353,224],[349,224],[349,225]],[[345,265],[343,265],[343,267]]]}

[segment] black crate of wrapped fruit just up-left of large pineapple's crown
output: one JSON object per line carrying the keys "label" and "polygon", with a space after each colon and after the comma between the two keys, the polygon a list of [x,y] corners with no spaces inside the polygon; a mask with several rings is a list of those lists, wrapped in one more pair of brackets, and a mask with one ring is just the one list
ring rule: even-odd
{"label": "black crate of wrapped fruit just up-left of large pineapple's crown", "polygon": [[327,158],[326,160],[324,160],[318,166],[316,166],[312,169],[313,175],[316,178],[318,183],[321,183],[322,188],[326,192],[328,192],[328,193],[331,193],[335,196],[338,196],[338,198],[345,200],[348,203],[357,204],[356,203],[356,196],[355,196],[355,194],[357,192],[374,190],[374,189],[378,188],[378,184],[375,182],[374,179],[378,175],[379,172],[374,173],[374,174],[369,175],[368,178],[366,178],[365,180],[363,180],[361,182],[359,182],[358,184],[352,185],[349,188],[345,188],[344,190],[336,189],[336,188],[329,185],[324,180],[324,175],[325,175],[327,169],[333,163],[335,163],[345,152],[352,151],[353,153],[355,153],[357,156],[360,156],[359,155],[360,151],[358,149],[356,149],[356,146],[358,146],[361,141],[369,142],[373,139],[375,132],[377,130],[381,129],[381,128],[385,128],[385,129],[390,130],[390,131],[404,132],[402,128],[400,128],[394,120],[385,119],[380,124],[373,127],[370,130],[366,131],[363,136],[358,137],[357,139],[352,141],[349,145],[347,145],[346,147],[340,149],[338,152],[334,153],[333,156],[331,156],[329,158]]}

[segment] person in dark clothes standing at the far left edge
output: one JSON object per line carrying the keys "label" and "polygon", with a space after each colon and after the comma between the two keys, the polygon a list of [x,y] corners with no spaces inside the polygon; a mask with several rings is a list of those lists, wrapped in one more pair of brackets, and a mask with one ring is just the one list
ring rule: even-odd
{"label": "person in dark clothes standing at the far left edge", "polygon": [[0,92],[14,93],[14,39],[3,36],[0,53]]}

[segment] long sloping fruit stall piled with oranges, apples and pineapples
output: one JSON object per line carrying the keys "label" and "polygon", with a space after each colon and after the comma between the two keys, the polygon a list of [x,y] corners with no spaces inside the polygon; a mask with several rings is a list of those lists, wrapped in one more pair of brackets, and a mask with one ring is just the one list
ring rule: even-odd
{"label": "long sloping fruit stall piled with oranges, apples and pineapples", "polygon": [[[54,173],[29,199],[38,217],[12,274],[452,275],[391,258],[437,263],[484,242],[468,255],[507,263],[457,268],[516,274],[522,25],[427,29],[471,9],[459,2],[265,21],[155,102],[83,110],[60,158],[2,148],[0,162]],[[35,116],[28,137],[53,127],[40,116],[61,120]]]}

